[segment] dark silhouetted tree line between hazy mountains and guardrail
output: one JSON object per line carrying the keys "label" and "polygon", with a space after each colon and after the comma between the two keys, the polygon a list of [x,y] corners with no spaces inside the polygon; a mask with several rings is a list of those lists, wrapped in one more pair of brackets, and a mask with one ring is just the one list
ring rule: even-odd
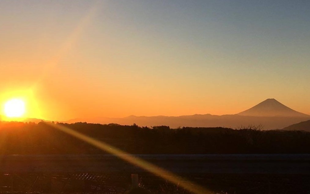
{"label": "dark silhouetted tree line between hazy mountains and guardrail", "polygon": [[105,153],[53,125],[69,127],[133,154],[310,153],[310,132],[305,131],[0,122],[0,154]]}

